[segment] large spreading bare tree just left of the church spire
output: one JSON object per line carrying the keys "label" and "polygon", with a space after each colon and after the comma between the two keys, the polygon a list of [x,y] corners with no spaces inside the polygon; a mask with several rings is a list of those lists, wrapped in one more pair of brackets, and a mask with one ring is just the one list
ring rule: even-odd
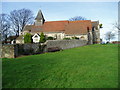
{"label": "large spreading bare tree just left of the church spire", "polygon": [[16,32],[16,36],[19,36],[19,31],[22,31],[27,24],[31,24],[33,21],[33,13],[29,9],[13,10],[10,12],[10,18],[12,29]]}

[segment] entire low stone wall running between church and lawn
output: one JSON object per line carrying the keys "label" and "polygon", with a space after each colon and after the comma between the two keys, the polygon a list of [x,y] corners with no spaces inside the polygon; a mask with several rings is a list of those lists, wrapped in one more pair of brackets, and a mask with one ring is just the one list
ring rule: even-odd
{"label": "entire low stone wall running between church and lawn", "polygon": [[15,44],[2,45],[1,58],[15,58],[21,55],[40,54],[48,51],[48,48],[58,47],[60,49],[69,49],[87,45],[84,40],[49,40],[46,44]]}

